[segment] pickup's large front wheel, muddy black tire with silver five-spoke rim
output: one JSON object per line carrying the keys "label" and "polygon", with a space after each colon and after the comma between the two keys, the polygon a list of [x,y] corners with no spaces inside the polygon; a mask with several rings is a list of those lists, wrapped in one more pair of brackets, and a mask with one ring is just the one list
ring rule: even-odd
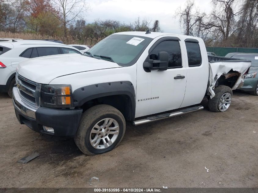
{"label": "pickup's large front wheel, muddy black tire with silver five-spoke rim", "polygon": [[74,141],[84,154],[96,155],[114,149],[124,134],[122,113],[110,105],[96,105],[82,114]]}

